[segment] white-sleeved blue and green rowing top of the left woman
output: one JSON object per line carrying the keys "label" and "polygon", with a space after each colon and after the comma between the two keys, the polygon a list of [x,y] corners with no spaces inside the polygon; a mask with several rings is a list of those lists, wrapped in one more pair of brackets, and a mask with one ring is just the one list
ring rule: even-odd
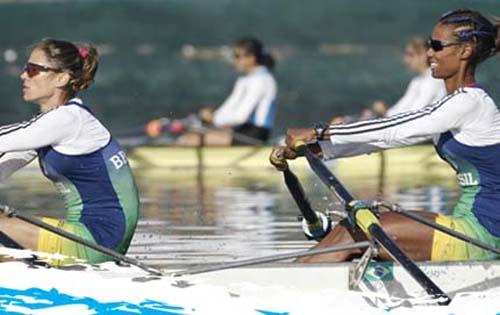
{"label": "white-sleeved blue and green rowing top of the left woman", "polygon": [[78,98],[33,119],[0,127],[0,173],[6,177],[38,156],[42,173],[101,246],[128,246],[139,195],[125,152]]}

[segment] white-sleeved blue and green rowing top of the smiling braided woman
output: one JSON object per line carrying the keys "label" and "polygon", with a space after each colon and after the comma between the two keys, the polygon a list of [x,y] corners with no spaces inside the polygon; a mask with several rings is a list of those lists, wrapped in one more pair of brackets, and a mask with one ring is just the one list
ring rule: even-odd
{"label": "white-sleeved blue and green rowing top of the smiling braided woman", "polygon": [[320,143],[326,158],[358,155],[432,139],[457,174],[462,197],[454,208],[472,211],[500,237],[500,112],[481,88],[462,88],[420,110],[332,125]]}

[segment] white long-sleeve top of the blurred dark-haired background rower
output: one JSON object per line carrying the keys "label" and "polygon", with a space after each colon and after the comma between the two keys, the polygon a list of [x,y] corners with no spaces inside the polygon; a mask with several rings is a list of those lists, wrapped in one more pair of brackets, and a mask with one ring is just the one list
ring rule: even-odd
{"label": "white long-sleeve top of the blurred dark-haired background rower", "polygon": [[214,113],[216,127],[250,123],[271,129],[274,124],[277,85],[264,66],[238,78],[231,95]]}

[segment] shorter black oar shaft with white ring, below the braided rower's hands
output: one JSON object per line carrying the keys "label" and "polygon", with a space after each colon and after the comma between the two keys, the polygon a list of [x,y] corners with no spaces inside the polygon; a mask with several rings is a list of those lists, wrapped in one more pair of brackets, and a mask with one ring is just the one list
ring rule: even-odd
{"label": "shorter black oar shaft with white ring, below the braided rower's hands", "polygon": [[285,166],[283,177],[286,187],[290,191],[305,220],[305,226],[303,225],[304,233],[309,239],[320,241],[330,232],[330,222],[324,215],[312,209],[299,179],[290,170],[288,163],[285,162]]}

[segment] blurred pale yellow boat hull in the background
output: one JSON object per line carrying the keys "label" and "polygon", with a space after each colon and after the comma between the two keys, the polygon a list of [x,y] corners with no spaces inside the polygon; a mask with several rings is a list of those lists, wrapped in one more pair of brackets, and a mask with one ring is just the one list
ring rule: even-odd
{"label": "blurred pale yellow boat hull in the background", "polygon": [[[130,163],[135,168],[270,169],[271,148],[271,146],[141,146],[129,149],[127,154]],[[335,165],[337,172],[340,172],[339,175],[346,172],[350,176],[378,176],[382,171],[386,172],[386,175],[414,174],[415,172],[432,173],[434,176],[453,175],[451,167],[438,157],[432,145],[386,150],[383,153],[343,158],[327,163]],[[307,161],[299,158],[290,161],[290,165],[293,169],[306,168]]]}

